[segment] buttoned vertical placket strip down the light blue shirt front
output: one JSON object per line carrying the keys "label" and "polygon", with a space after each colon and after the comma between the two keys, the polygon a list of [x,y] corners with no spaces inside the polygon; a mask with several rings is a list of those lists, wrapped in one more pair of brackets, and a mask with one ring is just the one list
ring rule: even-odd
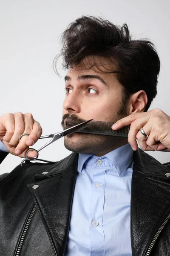
{"label": "buttoned vertical placket strip down the light blue shirt front", "polygon": [[105,196],[105,161],[96,159],[92,183],[90,235],[91,256],[105,256],[103,207]]}

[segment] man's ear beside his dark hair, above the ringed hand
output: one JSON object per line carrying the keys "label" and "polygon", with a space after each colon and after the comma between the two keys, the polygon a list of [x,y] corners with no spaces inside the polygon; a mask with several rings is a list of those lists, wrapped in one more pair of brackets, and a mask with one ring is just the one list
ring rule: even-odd
{"label": "man's ear beside his dark hair, above the ringed hand", "polygon": [[127,102],[128,114],[144,112],[147,105],[147,94],[144,90],[133,93]]}

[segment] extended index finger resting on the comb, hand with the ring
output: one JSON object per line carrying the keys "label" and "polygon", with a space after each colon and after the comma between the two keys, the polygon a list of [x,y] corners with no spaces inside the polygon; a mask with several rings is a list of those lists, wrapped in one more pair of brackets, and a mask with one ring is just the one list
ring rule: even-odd
{"label": "extended index finger resting on the comb, hand with the ring", "polygon": [[139,119],[139,117],[146,116],[148,112],[142,112],[142,113],[134,113],[129,116],[125,116],[122,119],[118,120],[114,125],[112,125],[113,130],[118,130],[126,125],[131,125],[132,122],[134,122],[136,119]]}

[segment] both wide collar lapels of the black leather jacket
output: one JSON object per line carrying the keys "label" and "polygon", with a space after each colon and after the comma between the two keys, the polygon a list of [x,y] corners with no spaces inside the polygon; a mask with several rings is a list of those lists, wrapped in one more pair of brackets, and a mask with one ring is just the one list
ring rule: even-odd
{"label": "both wide collar lapels of the black leather jacket", "polygon": [[[138,148],[133,153],[131,244],[133,256],[144,256],[156,231],[170,211],[168,169]],[[28,185],[50,236],[56,256],[65,251],[74,195],[78,154],[73,153],[36,175]],[[33,189],[33,185],[39,185]]]}

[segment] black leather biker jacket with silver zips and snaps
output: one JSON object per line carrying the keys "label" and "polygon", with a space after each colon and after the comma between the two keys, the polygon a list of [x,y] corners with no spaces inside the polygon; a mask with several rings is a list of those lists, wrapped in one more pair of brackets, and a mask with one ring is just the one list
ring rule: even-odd
{"label": "black leather biker jacket with silver zips and snaps", "polygon": [[[170,256],[170,163],[139,148],[133,160],[132,255]],[[0,176],[0,256],[64,255],[77,162],[76,153],[57,163],[27,161]]]}

